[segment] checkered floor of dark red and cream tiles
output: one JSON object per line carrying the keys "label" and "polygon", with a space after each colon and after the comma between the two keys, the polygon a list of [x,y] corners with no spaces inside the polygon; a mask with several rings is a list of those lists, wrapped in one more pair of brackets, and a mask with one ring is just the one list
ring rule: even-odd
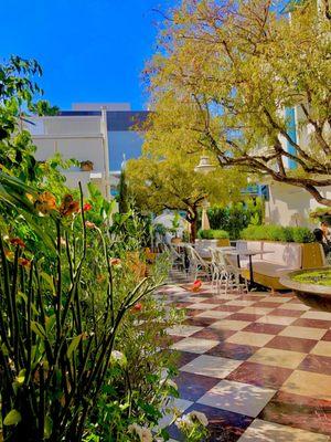
{"label": "checkered floor of dark red and cream tiles", "polygon": [[[188,288],[161,291],[186,308],[184,324],[170,330],[179,409],[204,412],[211,441],[331,441],[331,313],[291,294]],[[180,440],[174,425],[170,433]]]}

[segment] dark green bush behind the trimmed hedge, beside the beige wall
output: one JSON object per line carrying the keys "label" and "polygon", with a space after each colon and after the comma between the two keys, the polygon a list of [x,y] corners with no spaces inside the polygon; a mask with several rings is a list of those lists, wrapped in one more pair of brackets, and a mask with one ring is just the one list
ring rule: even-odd
{"label": "dark green bush behind the trimmed hedge, beside the beige wall", "polygon": [[227,207],[213,207],[207,215],[211,229],[225,230],[232,240],[239,238],[241,231],[249,224],[263,222],[264,204],[260,198],[247,199]]}

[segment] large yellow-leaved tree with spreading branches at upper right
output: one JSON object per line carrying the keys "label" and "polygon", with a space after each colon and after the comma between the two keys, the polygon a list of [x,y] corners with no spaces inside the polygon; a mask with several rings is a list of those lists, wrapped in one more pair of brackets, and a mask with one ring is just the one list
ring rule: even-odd
{"label": "large yellow-leaved tree with spreading branches at upper right", "polygon": [[147,70],[151,102],[222,167],[300,187],[331,206],[323,192],[331,186],[329,2],[284,4],[183,0]]}

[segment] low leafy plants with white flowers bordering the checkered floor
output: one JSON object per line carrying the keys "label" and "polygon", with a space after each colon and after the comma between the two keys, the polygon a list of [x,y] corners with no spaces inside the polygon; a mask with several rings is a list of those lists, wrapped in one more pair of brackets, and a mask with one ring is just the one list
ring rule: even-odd
{"label": "low leafy plants with white flowers bordering the checkered floor", "polygon": [[167,398],[178,397],[171,381],[175,355],[167,350],[166,328],[178,324],[181,315],[172,308],[167,313],[162,303],[145,297],[141,311],[128,315],[119,329],[116,348],[126,364],[109,369],[89,419],[88,433],[99,435],[103,442],[131,440],[128,429],[132,423],[154,428]]}

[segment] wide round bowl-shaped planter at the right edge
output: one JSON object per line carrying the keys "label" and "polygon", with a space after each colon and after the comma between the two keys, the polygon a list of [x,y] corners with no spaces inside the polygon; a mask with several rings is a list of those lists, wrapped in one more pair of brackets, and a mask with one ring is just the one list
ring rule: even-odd
{"label": "wide round bowl-shaped planter at the right edge", "polygon": [[[321,276],[317,276],[316,281],[311,283],[309,281],[295,281],[296,276],[307,276],[309,278],[311,274],[318,274],[319,272],[321,272]],[[331,312],[331,285],[319,284],[320,281],[323,281],[322,274],[328,274],[325,272],[331,273],[331,267],[300,270],[282,276],[280,283],[285,287],[292,290],[295,295],[309,307],[322,312]]]}

